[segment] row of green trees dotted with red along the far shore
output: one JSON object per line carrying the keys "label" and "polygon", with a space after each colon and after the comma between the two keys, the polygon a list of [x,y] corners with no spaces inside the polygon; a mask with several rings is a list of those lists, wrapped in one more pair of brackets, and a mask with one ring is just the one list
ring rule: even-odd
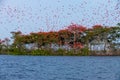
{"label": "row of green trees dotted with red along the far shore", "polygon": [[120,55],[120,25],[94,25],[87,28],[70,24],[50,32],[11,32],[10,39],[0,40],[1,54],[15,55]]}

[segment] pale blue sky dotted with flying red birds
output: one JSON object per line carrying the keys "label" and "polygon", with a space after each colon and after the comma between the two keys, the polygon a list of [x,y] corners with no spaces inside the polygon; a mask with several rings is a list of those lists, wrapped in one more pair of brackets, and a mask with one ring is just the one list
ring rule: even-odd
{"label": "pale blue sky dotted with flying red birds", "polygon": [[91,27],[120,22],[120,0],[0,0],[0,39],[64,29],[71,23]]}

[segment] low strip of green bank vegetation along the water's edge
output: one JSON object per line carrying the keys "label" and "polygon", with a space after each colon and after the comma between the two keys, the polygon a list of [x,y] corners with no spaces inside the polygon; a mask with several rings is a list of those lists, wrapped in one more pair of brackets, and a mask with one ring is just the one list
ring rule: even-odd
{"label": "low strip of green bank vegetation along the water's edge", "polygon": [[120,50],[106,52],[106,51],[90,51],[89,49],[37,49],[37,50],[6,50],[1,51],[2,55],[32,55],[32,56],[120,56]]}

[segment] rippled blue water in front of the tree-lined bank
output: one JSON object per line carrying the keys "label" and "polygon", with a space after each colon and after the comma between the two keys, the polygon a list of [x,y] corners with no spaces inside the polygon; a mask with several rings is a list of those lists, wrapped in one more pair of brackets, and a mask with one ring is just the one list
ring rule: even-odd
{"label": "rippled blue water in front of the tree-lined bank", "polygon": [[120,57],[1,55],[0,80],[120,80]]}

